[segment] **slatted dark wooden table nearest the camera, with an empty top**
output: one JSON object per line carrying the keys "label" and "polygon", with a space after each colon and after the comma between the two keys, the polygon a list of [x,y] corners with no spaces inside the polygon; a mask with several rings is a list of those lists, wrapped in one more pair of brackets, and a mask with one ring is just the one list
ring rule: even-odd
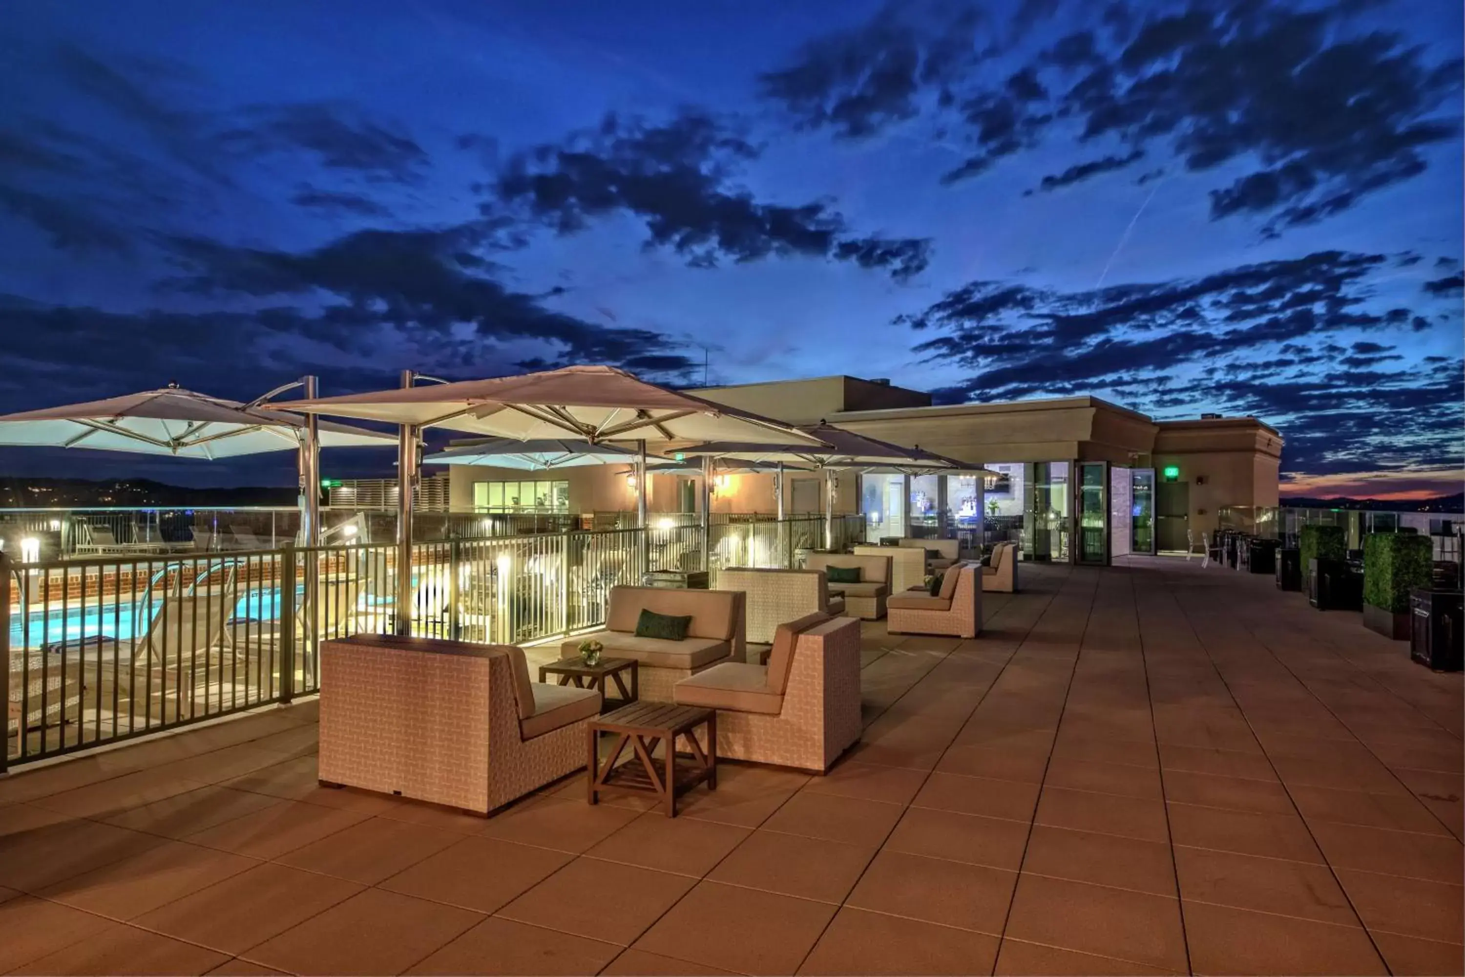
{"label": "slatted dark wooden table nearest the camera, with an empty top", "polygon": [[[706,748],[697,741],[697,728],[706,735]],[[607,759],[599,759],[601,734],[615,734],[615,744]],[[587,800],[595,804],[607,791],[655,794],[667,817],[677,816],[677,798],[708,782],[718,790],[718,713],[702,706],[675,706],[665,702],[639,702],[621,706],[589,727],[590,754],[585,766]],[[677,753],[678,740],[687,753]],[[631,746],[636,756],[621,766],[615,762]],[[656,757],[656,746],[662,756]]]}

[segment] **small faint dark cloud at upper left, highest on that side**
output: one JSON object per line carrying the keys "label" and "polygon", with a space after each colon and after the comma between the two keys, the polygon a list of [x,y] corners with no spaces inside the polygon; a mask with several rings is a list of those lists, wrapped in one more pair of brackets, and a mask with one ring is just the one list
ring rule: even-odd
{"label": "small faint dark cloud at upper left, highest on that side", "polygon": [[374,180],[410,183],[428,166],[426,151],[410,136],[347,103],[256,105],[242,111],[217,141],[230,152],[249,155],[303,151],[328,170]]}

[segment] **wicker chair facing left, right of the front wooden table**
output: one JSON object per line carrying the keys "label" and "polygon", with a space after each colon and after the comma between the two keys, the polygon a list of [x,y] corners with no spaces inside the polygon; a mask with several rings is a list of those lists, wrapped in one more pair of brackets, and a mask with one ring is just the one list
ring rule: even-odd
{"label": "wicker chair facing left, right of the front wooden table", "polygon": [[718,756],[823,773],[860,738],[860,624],[810,614],[778,625],[768,665],[725,662],[677,683],[718,710]]}

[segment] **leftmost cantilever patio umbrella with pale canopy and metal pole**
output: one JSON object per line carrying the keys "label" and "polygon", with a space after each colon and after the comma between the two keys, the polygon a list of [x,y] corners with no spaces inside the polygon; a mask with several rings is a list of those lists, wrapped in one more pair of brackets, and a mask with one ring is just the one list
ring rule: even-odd
{"label": "leftmost cantilever patio umbrella with pale canopy and metal pole", "polygon": [[[294,385],[312,391],[315,378],[308,376],[286,388]],[[177,385],[0,416],[0,445],[204,460],[293,448],[300,472],[300,529],[306,545],[312,545],[319,532],[319,448],[384,447],[393,441],[388,434],[322,423],[315,417],[262,407],[259,401],[243,404]]]}

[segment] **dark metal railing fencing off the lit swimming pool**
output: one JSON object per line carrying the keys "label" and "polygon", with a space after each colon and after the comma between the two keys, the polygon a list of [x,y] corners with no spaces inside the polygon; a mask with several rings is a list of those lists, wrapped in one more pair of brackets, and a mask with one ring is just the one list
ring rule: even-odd
{"label": "dark metal railing fencing off the lit swimming pool", "polygon": [[[834,546],[863,519],[834,520]],[[529,643],[604,624],[642,568],[795,567],[822,517],[422,539],[415,634]],[[28,763],[318,690],[321,642],[397,630],[387,542],[18,562],[0,552],[0,700],[7,765]]]}

